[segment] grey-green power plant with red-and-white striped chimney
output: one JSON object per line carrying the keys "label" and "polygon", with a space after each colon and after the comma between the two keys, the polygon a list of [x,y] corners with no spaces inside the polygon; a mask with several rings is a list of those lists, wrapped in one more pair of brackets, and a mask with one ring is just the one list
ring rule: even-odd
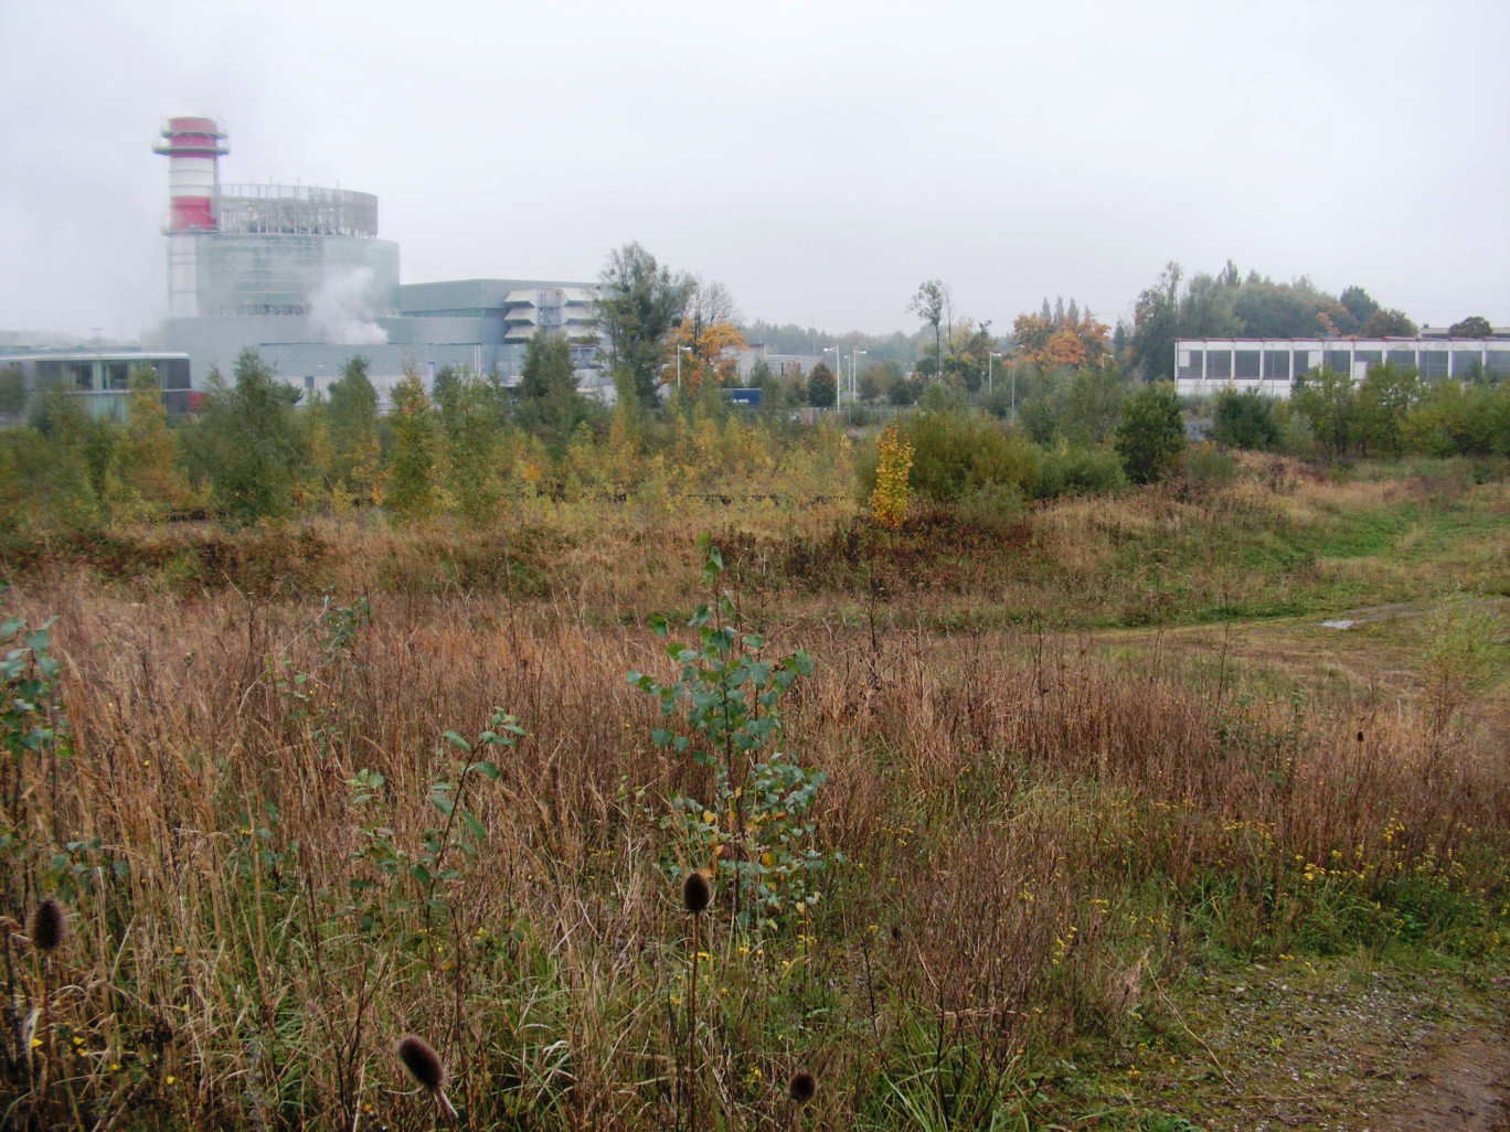
{"label": "grey-green power plant with red-and-white striped chimney", "polygon": [[187,355],[190,388],[230,377],[257,350],[307,391],[353,355],[382,395],[406,370],[445,365],[512,379],[528,340],[566,335],[583,385],[604,385],[590,282],[461,279],[399,284],[399,245],[378,237],[378,198],[349,189],[220,184],[230,149],[211,118],[171,118],[156,151],[169,163],[168,305],[151,344]]}

